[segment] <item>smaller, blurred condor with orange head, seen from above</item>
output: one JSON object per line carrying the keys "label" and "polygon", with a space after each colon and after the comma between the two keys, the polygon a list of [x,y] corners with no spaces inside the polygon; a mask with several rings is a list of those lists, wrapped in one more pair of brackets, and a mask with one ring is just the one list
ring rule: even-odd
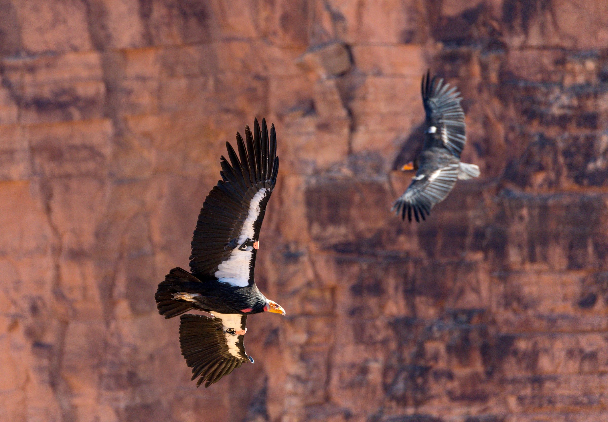
{"label": "smaller, blurred condor with orange head, seen from above", "polygon": [[465,147],[465,113],[460,105],[460,93],[450,88],[443,79],[430,79],[427,72],[422,79],[422,100],[426,112],[426,131],[423,150],[414,161],[402,167],[404,171],[415,170],[412,183],[399,199],[393,210],[401,218],[412,221],[426,219],[430,209],[446,199],[456,180],[467,180],[479,176],[475,164],[460,162],[460,153]]}

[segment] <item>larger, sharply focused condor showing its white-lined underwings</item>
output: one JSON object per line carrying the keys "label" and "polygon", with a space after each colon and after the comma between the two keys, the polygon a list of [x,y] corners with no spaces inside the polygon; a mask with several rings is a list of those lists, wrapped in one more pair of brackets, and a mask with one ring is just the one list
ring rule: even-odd
{"label": "larger, sharply focused condor showing its white-lined underwings", "polygon": [[190,272],[179,267],[156,291],[158,311],[172,318],[196,309],[206,315],[181,316],[179,343],[198,387],[218,382],[243,362],[254,362],[243,339],[247,315],[276,312],[281,306],[261,294],[254,281],[255,255],[266,204],[277,181],[277,136],[255,120],[245,140],[237,133],[237,152],[226,142],[222,180],[209,192],[192,239]]}

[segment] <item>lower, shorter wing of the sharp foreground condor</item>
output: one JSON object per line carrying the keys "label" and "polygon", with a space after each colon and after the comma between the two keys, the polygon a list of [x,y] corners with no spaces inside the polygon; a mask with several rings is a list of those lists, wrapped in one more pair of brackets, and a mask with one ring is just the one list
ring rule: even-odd
{"label": "lower, shorter wing of the sharp foreground condor", "polygon": [[253,359],[245,353],[243,334],[247,315],[218,314],[215,318],[205,315],[182,315],[179,325],[179,345],[192,379],[200,376],[196,387],[205,387]]}

